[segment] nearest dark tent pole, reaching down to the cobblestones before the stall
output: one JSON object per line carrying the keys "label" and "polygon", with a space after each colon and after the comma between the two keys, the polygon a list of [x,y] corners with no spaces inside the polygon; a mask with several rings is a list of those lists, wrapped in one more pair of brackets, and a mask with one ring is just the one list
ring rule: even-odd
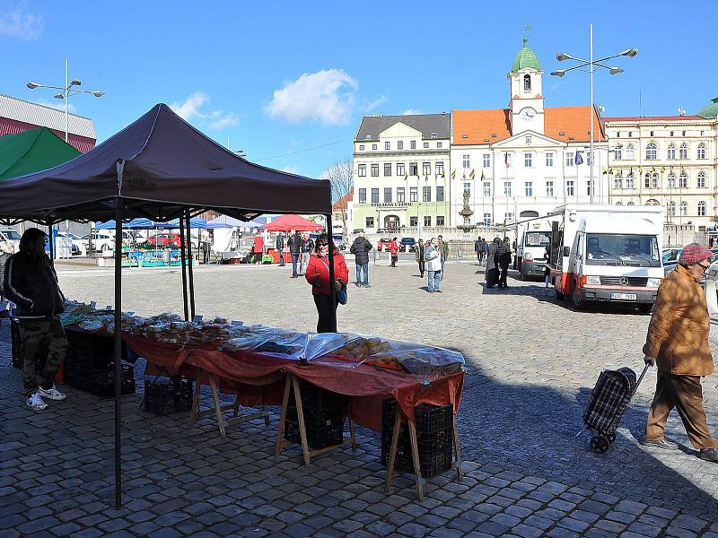
{"label": "nearest dark tent pole, reaching down to the cobblestones before the stall", "polygon": [[122,506],[122,198],[115,197],[115,508]]}

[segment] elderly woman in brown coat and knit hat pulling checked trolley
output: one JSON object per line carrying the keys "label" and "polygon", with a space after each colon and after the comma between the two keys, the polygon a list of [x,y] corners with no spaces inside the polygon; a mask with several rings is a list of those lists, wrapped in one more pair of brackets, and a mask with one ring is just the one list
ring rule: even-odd
{"label": "elderly woman in brown coat and knit hat pulling checked trolley", "polygon": [[658,289],[644,345],[644,361],[658,367],[658,378],[641,444],[679,449],[665,438],[666,421],[675,407],[697,456],[718,463],[718,439],[708,430],[701,385],[701,378],[714,372],[708,343],[711,321],[699,283],[712,256],[704,245],[687,245],[675,271]]}

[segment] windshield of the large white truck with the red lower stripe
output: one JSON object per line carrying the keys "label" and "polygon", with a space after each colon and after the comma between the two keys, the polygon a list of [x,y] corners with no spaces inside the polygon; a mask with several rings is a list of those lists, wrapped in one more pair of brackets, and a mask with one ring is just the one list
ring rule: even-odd
{"label": "windshield of the large white truck with the red lower stripe", "polygon": [[647,235],[586,234],[587,265],[660,267],[658,240]]}

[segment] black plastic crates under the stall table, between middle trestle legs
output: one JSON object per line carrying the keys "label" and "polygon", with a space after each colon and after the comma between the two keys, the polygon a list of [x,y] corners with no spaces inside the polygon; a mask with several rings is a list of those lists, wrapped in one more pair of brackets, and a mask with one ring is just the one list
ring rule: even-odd
{"label": "black plastic crates under the stall table, between middle trestle legs", "polygon": [[[300,381],[307,445],[311,449],[333,447],[344,441],[344,421],[349,398]],[[294,390],[289,395],[285,420],[285,439],[301,444]]]}

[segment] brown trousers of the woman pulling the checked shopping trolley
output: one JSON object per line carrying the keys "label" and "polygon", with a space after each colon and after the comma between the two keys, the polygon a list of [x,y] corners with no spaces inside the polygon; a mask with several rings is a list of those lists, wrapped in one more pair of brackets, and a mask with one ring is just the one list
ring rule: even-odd
{"label": "brown trousers of the woman pulling the checked shopping trolley", "polygon": [[711,436],[703,407],[703,386],[698,376],[674,376],[658,370],[656,394],[645,427],[646,440],[663,438],[668,415],[673,408],[679,412],[691,445],[696,449],[718,447]]}

